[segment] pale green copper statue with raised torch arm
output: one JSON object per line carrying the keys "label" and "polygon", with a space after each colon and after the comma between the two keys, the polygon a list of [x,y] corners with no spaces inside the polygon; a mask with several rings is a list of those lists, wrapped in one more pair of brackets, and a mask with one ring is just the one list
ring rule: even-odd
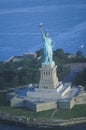
{"label": "pale green copper statue with raised torch arm", "polygon": [[44,33],[43,32],[43,24],[40,23],[40,31],[42,33],[42,37],[44,40],[44,44],[43,44],[43,50],[44,50],[44,64],[52,64],[54,63],[53,61],[53,41],[52,39],[49,37],[48,33]]}

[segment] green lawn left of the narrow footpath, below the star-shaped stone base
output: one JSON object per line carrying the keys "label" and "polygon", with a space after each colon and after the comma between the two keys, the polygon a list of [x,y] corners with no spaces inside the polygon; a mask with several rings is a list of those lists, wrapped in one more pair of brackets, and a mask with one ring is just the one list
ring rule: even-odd
{"label": "green lawn left of the narrow footpath, below the star-shaped stone base", "polygon": [[24,108],[11,108],[9,106],[0,106],[0,112],[4,112],[9,115],[23,115],[29,118],[49,119],[53,110],[34,112]]}

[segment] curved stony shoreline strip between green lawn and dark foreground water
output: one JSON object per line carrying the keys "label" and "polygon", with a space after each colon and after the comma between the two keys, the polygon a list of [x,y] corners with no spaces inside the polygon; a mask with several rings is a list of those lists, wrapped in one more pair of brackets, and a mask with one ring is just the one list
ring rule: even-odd
{"label": "curved stony shoreline strip between green lawn and dark foreground water", "polygon": [[0,113],[0,121],[4,123],[13,123],[18,125],[25,125],[28,127],[68,127],[76,124],[86,123],[86,117],[72,118],[72,119],[29,119],[24,116],[9,116]]}

